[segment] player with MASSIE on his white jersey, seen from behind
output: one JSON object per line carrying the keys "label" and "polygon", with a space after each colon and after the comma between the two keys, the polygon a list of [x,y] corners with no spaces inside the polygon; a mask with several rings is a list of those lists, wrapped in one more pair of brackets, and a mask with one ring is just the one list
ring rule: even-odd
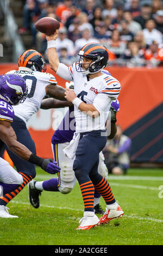
{"label": "player with MASSIE on his white jersey, seen from behind", "polygon": [[[27,121],[34,113],[39,111],[41,101],[46,94],[56,97],[59,100],[65,100],[65,89],[57,85],[57,81],[53,75],[46,73],[45,60],[35,50],[23,52],[18,58],[18,70],[9,71],[7,74],[11,73],[22,76],[28,86],[26,101],[21,105],[13,106],[15,118],[11,126],[16,133],[17,141],[26,145],[33,154],[36,154],[35,143],[27,130]],[[35,164],[20,159],[8,148],[7,151],[17,171],[28,176],[29,179],[27,179],[27,182],[23,183],[23,186],[27,185],[36,175]],[[16,190],[13,193],[8,193],[0,197],[0,206],[6,206],[19,192],[20,190]]]}

